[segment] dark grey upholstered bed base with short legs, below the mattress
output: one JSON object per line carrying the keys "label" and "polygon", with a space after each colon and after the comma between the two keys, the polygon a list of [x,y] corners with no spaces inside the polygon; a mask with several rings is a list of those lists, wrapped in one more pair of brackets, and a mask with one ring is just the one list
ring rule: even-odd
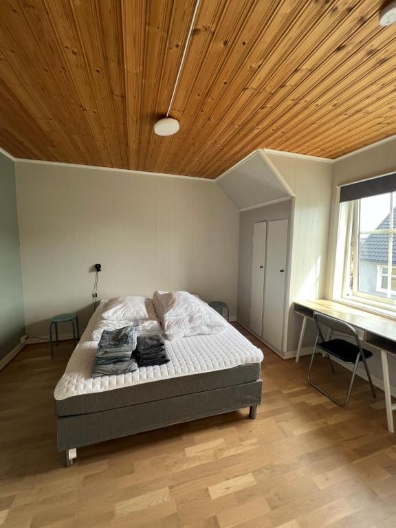
{"label": "dark grey upholstered bed base with short legs, below the mattress", "polygon": [[[252,367],[253,365],[246,365],[228,369],[228,371],[186,376],[184,380],[179,379],[181,380],[178,382],[179,388],[175,390],[177,395],[173,397],[169,397],[172,391],[169,391],[165,385],[164,397],[159,399],[155,386],[157,384],[161,386],[162,382],[150,382],[135,387],[135,389],[142,391],[146,399],[146,401],[142,401],[142,397],[136,397],[134,401],[137,403],[135,404],[131,404],[130,397],[125,397],[125,395],[133,393],[125,393],[124,389],[114,389],[113,391],[107,391],[114,408],[106,408],[100,403],[100,405],[92,406],[92,408],[95,408],[94,412],[86,412],[88,406],[84,404],[84,401],[76,401],[76,404],[69,406],[69,410],[76,412],[76,414],[65,415],[63,414],[66,411],[65,405],[57,406],[58,450],[65,452],[65,465],[72,463],[73,458],[76,456],[76,448],[84,445],[91,445],[125,437],[137,432],[153,430],[174,423],[219,415],[247,407],[250,407],[250,417],[255,418],[256,406],[261,403],[262,382],[259,379],[259,375],[257,375],[260,369],[259,364],[254,364],[254,369]],[[220,373],[219,379],[221,382],[215,383],[215,374],[219,376]],[[210,376],[208,377],[209,374]],[[203,386],[201,386],[201,390],[197,391],[199,385],[195,386],[196,383],[201,384],[202,382],[199,379],[193,380],[192,378],[205,376],[208,380],[205,384],[208,390],[202,390]],[[247,381],[252,376],[256,377],[256,379]],[[187,391],[188,378],[190,378],[190,386],[195,388],[195,392],[183,394],[181,392]],[[225,383],[226,379],[228,380],[227,384]],[[177,378],[167,381],[175,382],[175,380]],[[226,384],[227,386],[218,386],[219,384]],[[151,397],[147,393],[150,389],[149,386],[153,388]],[[181,390],[181,386],[183,386],[184,390]],[[114,400],[117,397],[117,393],[120,395],[118,405]],[[101,399],[99,401],[102,401],[104,395],[106,393],[100,393]],[[136,393],[134,395],[136,396]],[[94,395],[86,395],[86,397],[89,402]],[[74,398],[81,399],[84,396]]]}

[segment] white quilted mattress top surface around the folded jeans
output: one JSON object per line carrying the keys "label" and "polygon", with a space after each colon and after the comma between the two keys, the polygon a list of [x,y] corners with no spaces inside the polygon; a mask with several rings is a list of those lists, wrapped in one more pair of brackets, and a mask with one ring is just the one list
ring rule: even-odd
{"label": "white quilted mattress top surface around the folded jeans", "polygon": [[103,309],[104,303],[101,303],[94,316],[91,317],[78,346],[67,363],[65,373],[56,385],[55,399],[102,393],[126,386],[221,371],[234,366],[263,361],[263,352],[254,347],[234,327],[227,325],[226,331],[209,336],[192,336],[177,341],[169,341],[164,337],[166,352],[170,359],[170,362],[165,365],[144,366],[128,374],[93,378],[91,371],[95,362],[98,341],[92,340],[92,333],[98,325]]}

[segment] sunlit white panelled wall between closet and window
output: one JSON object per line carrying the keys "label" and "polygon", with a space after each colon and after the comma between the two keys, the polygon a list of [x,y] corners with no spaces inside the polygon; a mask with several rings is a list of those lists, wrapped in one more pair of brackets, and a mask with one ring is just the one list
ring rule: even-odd
{"label": "sunlit white panelled wall between closet and window", "polygon": [[289,316],[285,325],[287,348],[284,350],[289,357],[288,352],[296,351],[302,323],[293,312],[294,301],[325,296],[333,165],[299,155],[267,152],[267,156],[295,195],[290,226],[292,260],[289,265]]}

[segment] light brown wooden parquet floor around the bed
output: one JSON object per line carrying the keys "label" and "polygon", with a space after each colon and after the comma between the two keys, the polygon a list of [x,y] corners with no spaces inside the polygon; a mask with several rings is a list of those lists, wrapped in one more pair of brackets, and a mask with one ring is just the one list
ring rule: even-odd
{"label": "light brown wooden parquet floor around the bed", "polygon": [[[254,341],[254,338],[250,336]],[[0,373],[0,526],[394,528],[396,434],[358,380],[342,409],[300,364],[265,349],[263,403],[78,450],[56,451],[52,392],[72,352],[30,345]],[[318,358],[316,380],[347,379]]]}

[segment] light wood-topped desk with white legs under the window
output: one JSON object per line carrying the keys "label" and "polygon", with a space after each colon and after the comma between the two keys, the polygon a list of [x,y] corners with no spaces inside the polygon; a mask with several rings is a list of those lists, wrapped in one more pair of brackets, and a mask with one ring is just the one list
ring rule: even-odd
{"label": "light wood-topped desk with white legs under the window", "polygon": [[307,320],[313,318],[314,312],[325,314],[325,316],[335,317],[348,322],[349,325],[352,325],[355,328],[361,329],[364,335],[364,342],[380,349],[382,372],[384,374],[384,393],[386,416],[388,418],[388,430],[395,432],[393,425],[393,410],[396,410],[396,404],[392,404],[391,398],[388,355],[391,355],[396,359],[396,321],[383,316],[369,314],[366,311],[351,308],[327,299],[298,301],[294,303],[294,312],[303,316],[303,326],[301,327],[300,340],[298,342],[296,362],[300,360]]}

